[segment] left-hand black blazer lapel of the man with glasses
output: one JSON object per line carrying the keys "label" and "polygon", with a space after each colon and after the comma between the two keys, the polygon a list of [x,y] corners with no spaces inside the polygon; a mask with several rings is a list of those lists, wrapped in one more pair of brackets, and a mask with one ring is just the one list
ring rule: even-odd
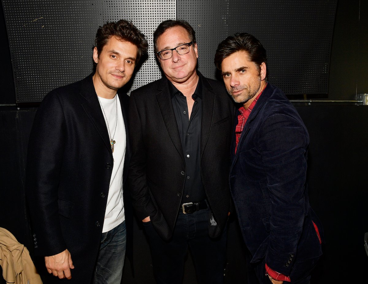
{"label": "left-hand black blazer lapel of the man with glasses", "polygon": [[167,128],[167,132],[169,132],[171,140],[173,141],[180,156],[184,160],[183,147],[181,146],[180,135],[174,114],[173,103],[171,102],[169,86],[167,86],[166,79],[164,78],[161,79],[156,98]]}

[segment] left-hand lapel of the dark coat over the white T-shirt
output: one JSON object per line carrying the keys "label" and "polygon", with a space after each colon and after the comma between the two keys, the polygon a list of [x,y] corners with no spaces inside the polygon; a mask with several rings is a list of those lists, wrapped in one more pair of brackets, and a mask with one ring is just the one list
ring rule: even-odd
{"label": "left-hand lapel of the dark coat over the white T-shirt", "polygon": [[105,118],[103,117],[100,103],[98,101],[95,87],[93,86],[92,74],[82,81],[82,88],[80,95],[84,97],[85,102],[82,103],[82,107],[86,112],[92,124],[95,126],[101,139],[105,143],[107,150],[109,150],[111,156],[113,155],[110,145],[109,133],[107,132]]}

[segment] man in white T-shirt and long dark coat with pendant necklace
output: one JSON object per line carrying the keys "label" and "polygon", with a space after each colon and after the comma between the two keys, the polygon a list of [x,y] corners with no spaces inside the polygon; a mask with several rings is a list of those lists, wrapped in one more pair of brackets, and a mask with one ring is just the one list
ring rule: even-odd
{"label": "man in white T-shirt and long dark coat with pendant necklace", "polygon": [[120,283],[130,241],[129,97],[118,90],[148,44],[125,20],[100,26],[95,43],[96,72],[45,96],[29,138],[35,254],[56,276],[45,283]]}

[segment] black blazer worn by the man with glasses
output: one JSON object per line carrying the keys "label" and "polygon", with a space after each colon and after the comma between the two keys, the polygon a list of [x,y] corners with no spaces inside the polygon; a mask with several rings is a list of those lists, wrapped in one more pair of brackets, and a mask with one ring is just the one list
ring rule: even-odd
{"label": "black blazer worn by the man with glasses", "polygon": [[[201,176],[219,235],[230,207],[229,166],[233,103],[222,82],[204,78]],[[132,157],[128,180],[138,219],[151,217],[159,235],[170,239],[181,204],[185,162],[166,78],[131,92]],[[212,227],[212,226],[209,226]],[[215,226],[213,226],[215,227]]]}

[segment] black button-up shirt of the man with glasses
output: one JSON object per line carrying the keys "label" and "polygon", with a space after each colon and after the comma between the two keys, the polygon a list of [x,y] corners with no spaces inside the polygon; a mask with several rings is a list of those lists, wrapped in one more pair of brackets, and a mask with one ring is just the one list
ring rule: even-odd
{"label": "black button-up shirt of the man with glasses", "polygon": [[169,80],[168,82],[186,166],[182,203],[198,202],[206,199],[200,170],[202,120],[201,77],[199,77],[197,88],[192,95],[194,105],[190,120],[187,98]]}

